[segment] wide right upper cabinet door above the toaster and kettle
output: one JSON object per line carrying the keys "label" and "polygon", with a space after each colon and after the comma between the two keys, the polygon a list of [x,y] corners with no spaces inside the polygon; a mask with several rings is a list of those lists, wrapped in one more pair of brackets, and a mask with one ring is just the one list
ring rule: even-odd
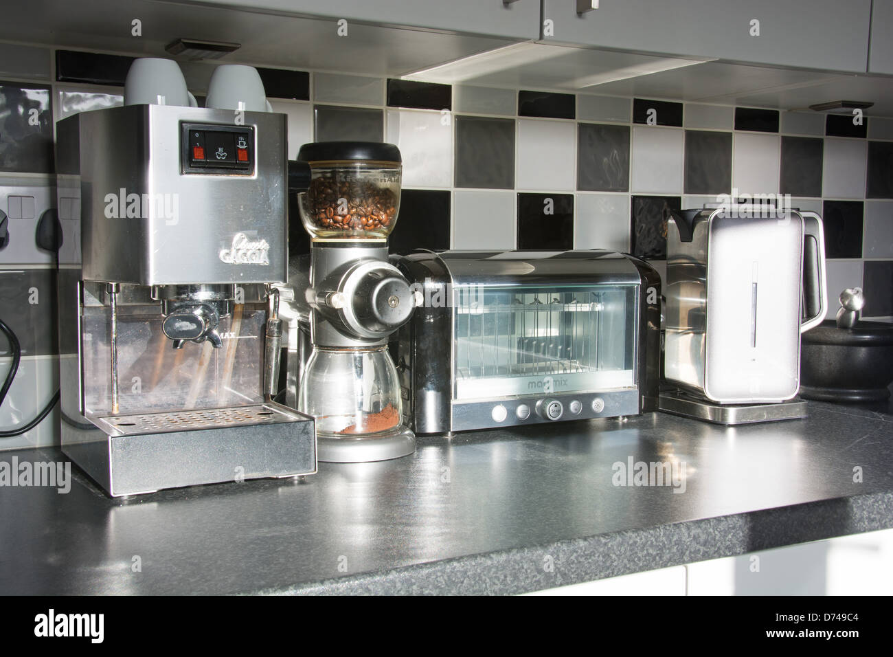
{"label": "wide right upper cabinet door above the toaster and kettle", "polygon": [[[584,3],[585,4],[585,3]],[[543,0],[547,42],[824,71],[868,70],[871,0]],[[893,0],[874,0],[888,13]],[[886,43],[876,49],[889,71]],[[873,47],[873,44],[872,44]]]}

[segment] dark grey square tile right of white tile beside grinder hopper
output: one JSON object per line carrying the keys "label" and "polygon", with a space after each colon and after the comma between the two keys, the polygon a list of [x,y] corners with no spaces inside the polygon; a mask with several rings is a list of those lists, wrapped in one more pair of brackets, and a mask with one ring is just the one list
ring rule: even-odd
{"label": "dark grey square tile right of white tile beside grinder hopper", "polygon": [[456,117],[455,186],[514,189],[514,119]]}

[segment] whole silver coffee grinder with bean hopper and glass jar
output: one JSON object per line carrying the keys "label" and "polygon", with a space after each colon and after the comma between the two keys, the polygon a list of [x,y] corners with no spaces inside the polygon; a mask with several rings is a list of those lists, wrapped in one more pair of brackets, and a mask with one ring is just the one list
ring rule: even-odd
{"label": "whole silver coffee grinder with bean hopper and glass jar", "polygon": [[[313,353],[297,409],[316,419],[321,461],[396,459],[415,451],[404,424],[388,336],[421,295],[388,263],[388,235],[400,206],[401,157],[393,144],[305,144],[309,189],[298,207],[311,237]],[[296,291],[299,293],[299,291]]]}

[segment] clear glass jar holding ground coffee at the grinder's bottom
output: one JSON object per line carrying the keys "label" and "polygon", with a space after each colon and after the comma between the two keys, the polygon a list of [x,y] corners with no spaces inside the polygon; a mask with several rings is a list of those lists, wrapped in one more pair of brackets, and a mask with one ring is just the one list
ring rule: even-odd
{"label": "clear glass jar holding ground coffee at the grinder's bottom", "polygon": [[315,347],[301,380],[297,409],[315,417],[317,434],[330,438],[402,428],[400,383],[388,348]]}

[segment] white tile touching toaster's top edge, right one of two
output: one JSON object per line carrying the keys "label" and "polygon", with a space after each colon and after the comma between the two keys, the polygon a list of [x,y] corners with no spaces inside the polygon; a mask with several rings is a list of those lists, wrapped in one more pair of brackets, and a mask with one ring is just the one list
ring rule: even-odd
{"label": "white tile touching toaster's top edge, right one of two", "polygon": [[630,251],[630,197],[626,194],[577,194],[573,248]]}

